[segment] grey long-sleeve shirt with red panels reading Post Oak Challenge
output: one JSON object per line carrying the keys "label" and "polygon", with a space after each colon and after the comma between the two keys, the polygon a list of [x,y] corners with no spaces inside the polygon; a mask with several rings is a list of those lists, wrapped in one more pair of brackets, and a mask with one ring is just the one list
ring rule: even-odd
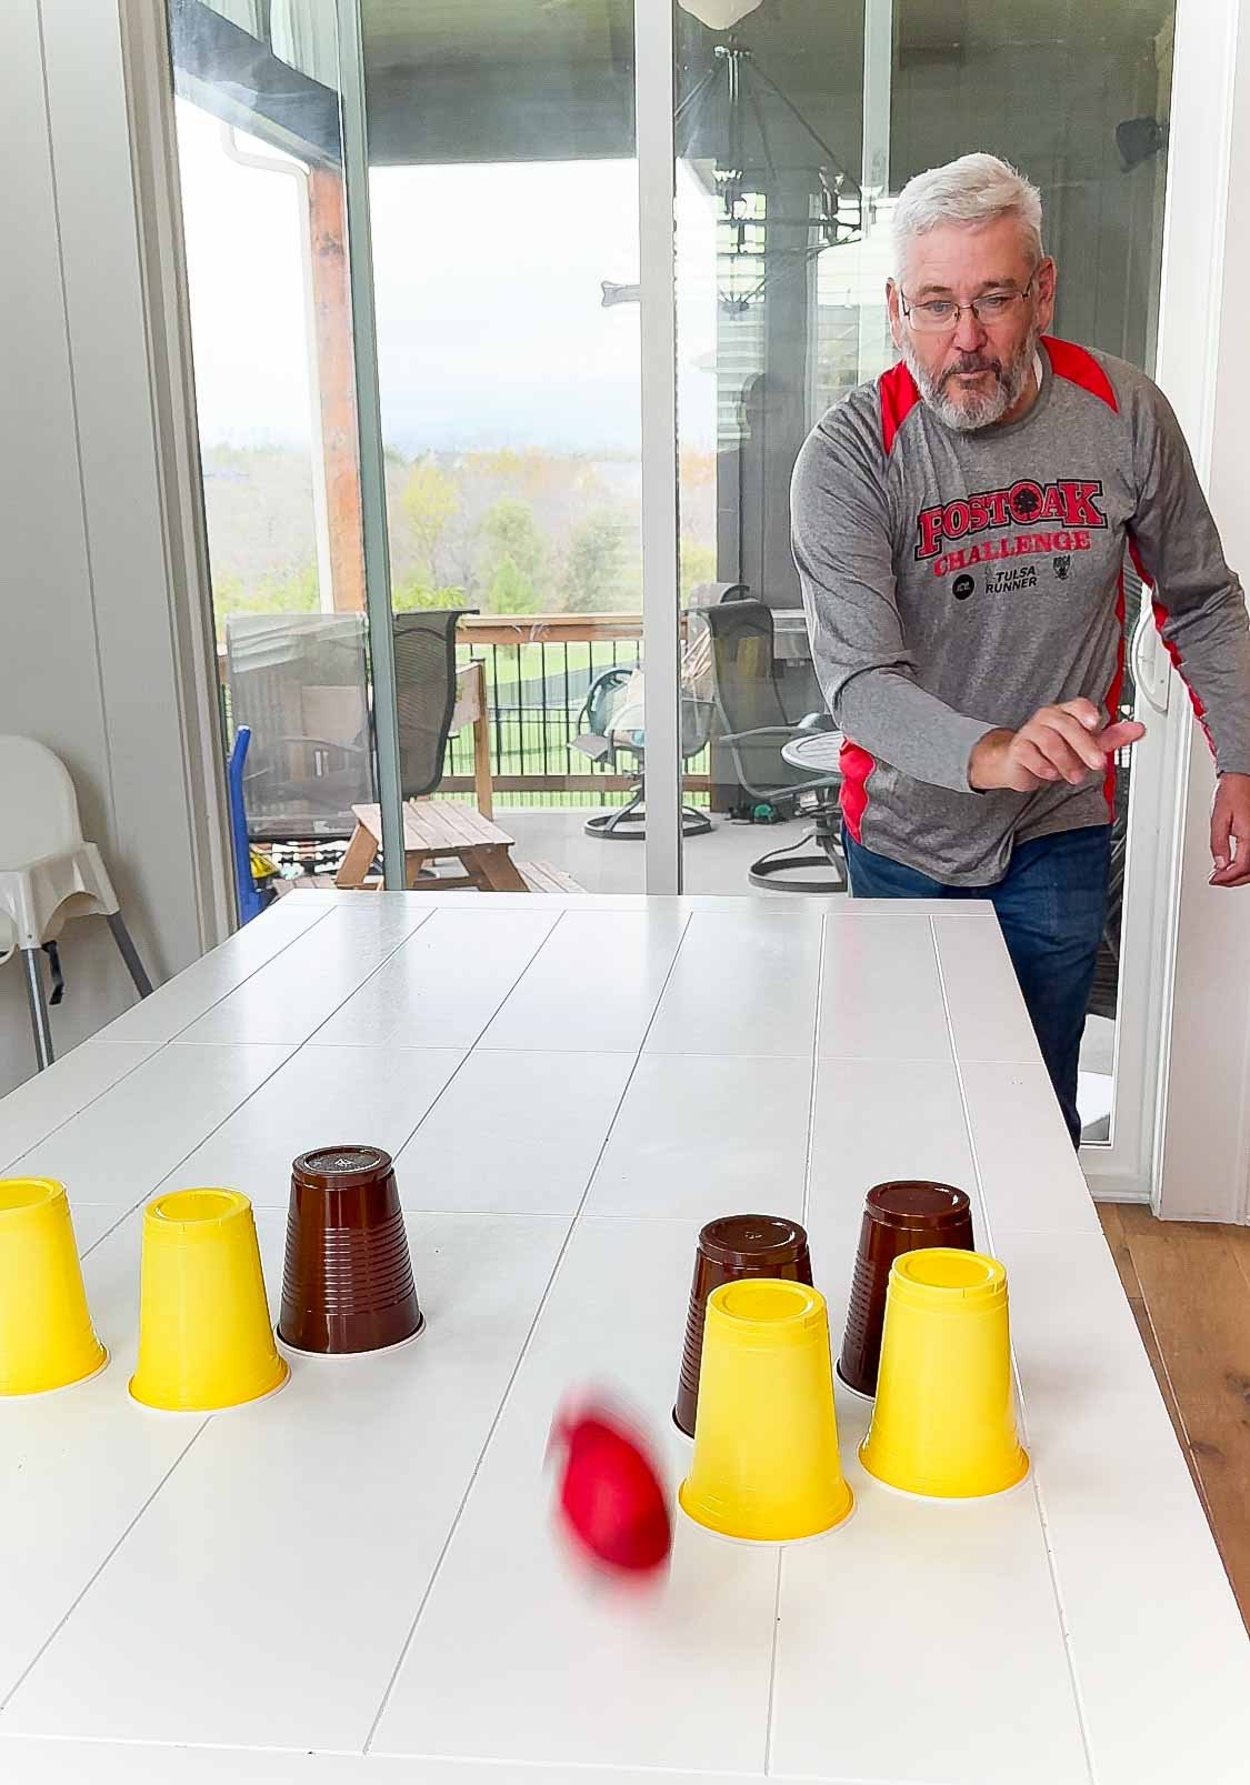
{"label": "grey long-sleeve shirt with red panels reading Post Oak Challenge", "polygon": [[1123,562],[1221,771],[1250,773],[1250,627],[1177,418],[1132,366],[1041,345],[1027,414],[961,434],[904,364],[807,437],[791,489],[816,671],[839,728],[843,816],[866,848],[948,885],[1002,878],[1016,843],[1105,825],[1109,787],[968,785],[988,730],[1086,696],[1112,714]]}

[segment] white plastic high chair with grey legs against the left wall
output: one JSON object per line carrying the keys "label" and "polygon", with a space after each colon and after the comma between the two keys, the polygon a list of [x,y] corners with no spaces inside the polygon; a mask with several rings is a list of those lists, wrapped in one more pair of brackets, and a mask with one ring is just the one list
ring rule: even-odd
{"label": "white plastic high chair with grey legs against the left wall", "polygon": [[139,998],[152,991],[95,843],[82,837],[79,800],[61,757],[34,737],[0,735],[0,960],[21,950],[39,1071],[52,1066],[52,1025],[39,950],[71,917],[109,919]]}

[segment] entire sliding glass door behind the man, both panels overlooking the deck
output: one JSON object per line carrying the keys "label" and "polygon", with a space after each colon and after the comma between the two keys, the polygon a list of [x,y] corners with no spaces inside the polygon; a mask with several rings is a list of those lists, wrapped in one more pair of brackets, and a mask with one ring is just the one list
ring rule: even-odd
{"label": "entire sliding glass door behind the man, both panels overlooking the deck", "polygon": [[[270,866],[841,896],[795,455],[893,359],[896,193],[973,148],[1041,186],[1055,332],[1152,368],[1171,0],[170,0],[170,27],[223,718]],[[1082,1059],[1112,1191],[1148,1146],[1162,730],[1118,768]]]}

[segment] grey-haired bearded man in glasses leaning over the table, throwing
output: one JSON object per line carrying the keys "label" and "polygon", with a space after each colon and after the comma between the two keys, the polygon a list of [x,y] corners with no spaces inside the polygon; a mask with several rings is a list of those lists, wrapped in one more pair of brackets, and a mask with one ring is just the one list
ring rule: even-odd
{"label": "grey-haired bearded man in glasses leaning over the table, throwing", "polygon": [[[1123,560],[1220,771],[1212,885],[1250,884],[1250,630],[1177,419],[1050,339],[1041,200],[993,155],[895,211],[902,359],[798,455],[795,559],[839,728],[852,894],[993,901],[1073,1144],[1107,909]],[[1145,596],[1143,596],[1145,598]]]}

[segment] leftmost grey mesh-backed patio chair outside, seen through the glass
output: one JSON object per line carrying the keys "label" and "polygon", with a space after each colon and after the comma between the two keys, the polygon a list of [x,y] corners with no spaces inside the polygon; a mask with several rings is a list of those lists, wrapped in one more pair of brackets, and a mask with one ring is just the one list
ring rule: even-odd
{"label": "leftmost grey mesh-backed patio chair outside, seen through the glass", "polygon": [[352,835],[375,800],[362,614],[230,614],[230,725],[248,726],[248,837]]}

